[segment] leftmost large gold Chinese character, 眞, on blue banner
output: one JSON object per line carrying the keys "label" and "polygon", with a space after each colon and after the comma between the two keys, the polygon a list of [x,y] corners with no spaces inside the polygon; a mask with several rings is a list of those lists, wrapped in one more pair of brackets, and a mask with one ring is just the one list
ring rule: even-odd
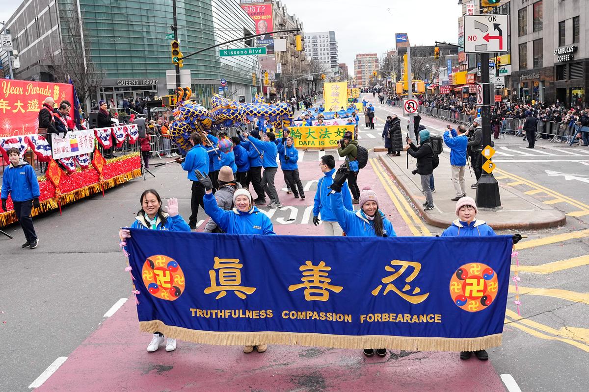
{"label": "leftmost large gold Chinese character, \u771e, on blue banner", "polygon": [[[241,286],[241,267],[239,259],[219,259],[215,257],[213,269],[209,270],[211,285],[204,289],[205,294],[219,292],[215,299],[220,299],[227,294],[227,290],[233,291],[241,299],[246,298],[246,294],[252,294],[256,287]],[[219,270],[219,284],[217,285],[217,271]],[[242,293],[243,292],[243,293]]]}

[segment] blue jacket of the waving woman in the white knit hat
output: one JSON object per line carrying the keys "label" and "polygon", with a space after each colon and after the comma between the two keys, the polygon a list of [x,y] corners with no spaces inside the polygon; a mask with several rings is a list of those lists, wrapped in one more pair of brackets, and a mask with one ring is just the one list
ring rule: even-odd
{"label": "blue jacket of the waving woman in the white knit hat", "polygon": [[205,193],[203,197],[204,212],[217,225],[229,234],[276,234],[270,218],[253,206],[248,212],[241,212],[236,207],[226,211],[217,206],[213,193]]}

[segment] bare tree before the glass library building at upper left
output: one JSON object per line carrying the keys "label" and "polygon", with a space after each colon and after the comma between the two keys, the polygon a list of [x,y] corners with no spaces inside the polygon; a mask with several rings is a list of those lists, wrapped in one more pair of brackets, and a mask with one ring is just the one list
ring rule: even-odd
{"label": "bare tree before the glass library building at upper left", "polygon": [[[62,48],[57,53],[48,50],[47,58],[55,79],[74,82],[78,99],[82,105],[96,93],[104,78],[104,72],[98,69],[90,56],[90,40],[84,33],[77,11],[61,15]],[[89,108],[88,108],[89,109]]]}

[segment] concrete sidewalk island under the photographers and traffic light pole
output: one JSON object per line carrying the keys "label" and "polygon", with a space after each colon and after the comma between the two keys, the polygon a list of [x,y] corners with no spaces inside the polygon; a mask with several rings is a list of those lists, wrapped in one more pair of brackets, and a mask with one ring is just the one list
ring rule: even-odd
{"label": "concrete sidewalk island under the photographers and traffic light pole", "polygon": [[[454,185],[452,185],[452,173],[449,158],[446,155],[439,155],[439,166],[434,170],[435,209],[424,212],[422,203],[425,202],[425,195],[421,192],[421,178],[419,175],[412,175],[415,169],[416,160],[409,156],[409,169],[407,169],[406,152],[401,156],[391,157],[380,154],[380,160],[388,167],[395,177],[399,186],[411,198],[413,204],[422,213],[426,222],[436,227],[446,228],[456,219],[455,206],[452,202],[456,196]],[[471,169],[472,170],[472,169]],[[472,177],[466,168],[465,182],[466,195],[476,200],[476,189],[471,189],[471,184],[476,182],[474,173]],[[566,218],[564,213],[551,206],[545,205],[524,193],[518,192],[512,187],[499,183],[499,195],[501,206],[494,209],[479,208],[477,217],[484,220],[494,229],[545,229],[547,227],[562,226]]]}

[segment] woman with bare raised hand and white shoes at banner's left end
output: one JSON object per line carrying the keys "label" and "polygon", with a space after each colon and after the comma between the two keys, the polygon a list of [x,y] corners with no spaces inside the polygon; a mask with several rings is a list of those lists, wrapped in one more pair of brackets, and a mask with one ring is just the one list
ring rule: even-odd
{"label": "woman with bare raised hand and white shoes at banner's left end", "polygon": [[[193,133],[195,135],[195,133]],[[197,147],[198,148],[198,147]],[[200,149],[200,148],[199,148]],[[204,150],[203,150],[204,151]],[[204,188],[203,188],[204,189]],[[131,229],[150,229],[150,230],[171,230],[173,232],[190,232],[190,227],[184,222],[183,217],[178,213],[178,199],[168,199],[166,211],[161,208],[161,197],[155,189],[145,190],[139,199],[141,209],[137,212]],[[121,246],[127,243],[125,240],[131,237],[129,230],[121,229],[118,232],[121,239]],[[160,348],[166,337],[163,333],[155,331],[147,351],[153,353]],[[176,339],[168,337],[166,342],[166,351],[176,350]]]}

